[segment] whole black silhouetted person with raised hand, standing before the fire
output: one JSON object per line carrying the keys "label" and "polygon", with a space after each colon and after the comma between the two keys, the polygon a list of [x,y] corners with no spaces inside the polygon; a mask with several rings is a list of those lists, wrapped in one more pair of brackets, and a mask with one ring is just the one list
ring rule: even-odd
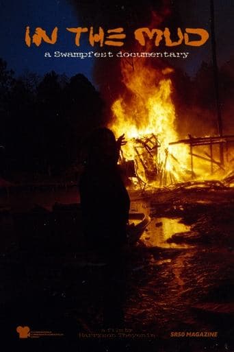
{"label": "whole black silhouetted person with raised hand, standing before the fire", "polygon": [[100,254],[103,272],[104,324],[119,326],[125,290],[122,248],[127,242],[126,226],[130,200],[118,169],[120,145],[111,130],[99,128],[86,141],[85,170],[79,190],[86,246]]}

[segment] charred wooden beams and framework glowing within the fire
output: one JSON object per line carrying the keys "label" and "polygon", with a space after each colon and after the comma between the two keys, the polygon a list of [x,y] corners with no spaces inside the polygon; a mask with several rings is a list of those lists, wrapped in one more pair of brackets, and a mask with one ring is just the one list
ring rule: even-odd
{"label": "charred wooden beams and framework glowing within the fire", "polygon": [[[223,137],[198,137],[194,138],[190,134],[188,139],[181,139],[179,141],[170,142],[169,145],[188,145],[188,154],[190,155],[190,169],[183,167],[181,159],[178,159],[172,153],[172,150],[166,148],[164,150],[164,160],[161,159],[159,154],[159,148],[161,144],[157,136],[153,133],[133,138],[129,143],[133,143],[133,149],[135,151],[135,159],[125,159],[124,152],[120,154],[120,164],[125,169],[125,175],[129,178],[136,178],[140,189],[145,189],[146,186],[152,185],[157,182],[159,187],[165,187],[175,183],[181,182],[181,180],[187,181],[189,179],[196,178],[194,172],[194,157],[200,159],[200,161],[207,161],[210,163],[210,174],[213,175],[215,167],[223,172],[225,171],[222,160],[223,156],[220,155],[220,160],[216,160],[216,156],[213,153],[214,145],[225,145],[226,162],[229,163],[229,148],[234,143],[234,135],[225,135]],[[203,154],[197,154],[194,152],[195,147],[208,146],[209,153],[203,150]],[[220,148],[224,150],[224,148]],[[168,161],[171,159],[170,168],[167,167]],[[144,176],[142,177],[142,173]],[[181,176],[182,175],[182,176]],[[179,177],[178,177],[179,176]]]}

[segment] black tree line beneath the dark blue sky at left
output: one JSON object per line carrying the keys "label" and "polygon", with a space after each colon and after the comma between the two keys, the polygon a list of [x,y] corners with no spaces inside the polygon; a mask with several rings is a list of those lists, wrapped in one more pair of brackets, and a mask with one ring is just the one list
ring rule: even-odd
{"label": "black tree line beneath the dark blue sky at left", "polygon": [[61,174],[85,134],[102,123],[103,100],[83,75],[14,72],[0,59],[1,174]]}

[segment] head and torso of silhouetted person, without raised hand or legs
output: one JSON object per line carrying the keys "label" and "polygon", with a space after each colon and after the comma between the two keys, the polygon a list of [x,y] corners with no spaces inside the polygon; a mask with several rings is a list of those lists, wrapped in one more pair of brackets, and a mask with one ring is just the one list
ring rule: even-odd
{"label": "head and torso of silhouetted person, without raised hand or legs", "polygon": [[126,242],[129,195],[118,170],[118,143],[111,130],[99,128],[88,139],[79,190],[86,243],[116,248]]}

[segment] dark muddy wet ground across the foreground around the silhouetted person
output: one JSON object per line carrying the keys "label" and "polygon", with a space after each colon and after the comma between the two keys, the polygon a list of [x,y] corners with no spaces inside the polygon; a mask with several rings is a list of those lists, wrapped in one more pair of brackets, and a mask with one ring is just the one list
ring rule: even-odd
{"label": "dark muddy wet ground across the foreground around the silhouetted person", "polygon": [[[53,213],[41,207],[2,209],[0,315],[9,346],[233,351],[233,194],[179,187],[132,195],[132,211],[150,213],[152,222],[137,245],[125,248],[125,275],[115,288],[125,297],[124,320],[116,324],[113,318],[109,326],[103,326],[103,296],[112,283],[103,274],[105,263],[81,250],[77,205]],[[19,340],[18,326],[64,336]],[[196,332],[217,336],[190,335]],[[75,347],[65,346],[65,337]],[[46,349],[52,340],[56,349]]]}

